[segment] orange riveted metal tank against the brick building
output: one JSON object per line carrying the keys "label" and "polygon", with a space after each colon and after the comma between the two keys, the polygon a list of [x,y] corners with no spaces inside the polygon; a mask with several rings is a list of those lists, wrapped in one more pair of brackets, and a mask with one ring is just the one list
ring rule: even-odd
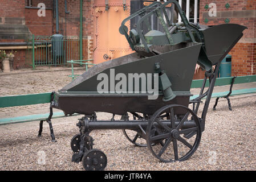
{"label": "orange riveted metal tank against the brick building", "polygon": [[[119,32],[121,22],[130,15],[130,0],[95,0],[94,3],[94,63],[132,53],[125,36]],[[129,27],[129,22],[125,25]]]}

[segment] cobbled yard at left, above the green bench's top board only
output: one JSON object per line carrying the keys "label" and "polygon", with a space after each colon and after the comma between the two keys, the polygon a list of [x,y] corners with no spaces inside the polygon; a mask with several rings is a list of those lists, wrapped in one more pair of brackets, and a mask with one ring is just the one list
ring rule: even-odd
{"label": "cobbled yard at left, above the green bench's top board only", "polygon": [[[34,94],[43,92],[52,92],[63,88],[72,78],[71,69],[67,71],[58,71],[56,68],[49,68],[52,71],[28,72],[13,74],[0,74],[0,96],[18,95],[18,94]],[[56,69],[56,71],[54,71]],[[23,71],[25,72],[25,71]],[[75,75],[82,74],[84,70],[75,70]]]}

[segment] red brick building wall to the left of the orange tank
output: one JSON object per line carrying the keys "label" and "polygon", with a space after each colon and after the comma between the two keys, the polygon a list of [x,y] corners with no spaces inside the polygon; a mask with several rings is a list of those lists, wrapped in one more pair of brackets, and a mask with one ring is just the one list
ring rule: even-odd
{"label": "red brick building wall to the left of the orange tank", "polygon": [[[59,34],[74,39],[80,35],[80,1],[59,0]],[[39,3],[46,5],[46,16],[38,16]],[[94,22],[92,5],[94,1],[83,0],[83,59],[92,59]],[[52,0],[1,0],[0,43],[22,43],[35,36],[56,34],[55,9]],[[30,67],[26,64],[26,49],[14,47],[14,69]],[[1,46],[0,46],[1,49]],[[7,53],[11,49],[5,50]],[[79,50],[78,50],[79,51]],[[78,52],[79,53],[79,52]]]}

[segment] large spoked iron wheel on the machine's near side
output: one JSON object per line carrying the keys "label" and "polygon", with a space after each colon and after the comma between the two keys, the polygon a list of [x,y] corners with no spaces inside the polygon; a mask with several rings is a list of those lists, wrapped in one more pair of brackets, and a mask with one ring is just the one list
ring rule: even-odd
{"label": "large spoked iron wheel on the machine's near side", "polygon": [[[163,113],[169,114],[170,117],[161,118]],[[149,150],[162,162],[184,161],[194,154],[200,144],[200,121],[186,106],[164,106],[152,115],[146,139]],[[159,140],[163,144],[152,146],[152,143]]]}

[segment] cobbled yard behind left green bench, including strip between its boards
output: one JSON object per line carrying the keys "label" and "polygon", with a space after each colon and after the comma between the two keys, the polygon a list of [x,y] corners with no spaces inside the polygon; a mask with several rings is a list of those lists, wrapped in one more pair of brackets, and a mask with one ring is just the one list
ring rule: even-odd
{"label": "cobbled yard behind left green bench, including strip between its boards", "polygon": [[[50,70],[49,70],[50,69]],[[72,81],[70,68],[41,68],[36,71],[31,69],[15,70],[11,73],[0,74],[0,97],[21,94],[35,94],[52,92],[63,88]],[[84,72],[82,68],[75,68],[75,75]],[[0,114],[6,112],[17,112],[20,110],[42,109],[48,108],[49,104],[36,104],[16,107],[2,107]]]}

